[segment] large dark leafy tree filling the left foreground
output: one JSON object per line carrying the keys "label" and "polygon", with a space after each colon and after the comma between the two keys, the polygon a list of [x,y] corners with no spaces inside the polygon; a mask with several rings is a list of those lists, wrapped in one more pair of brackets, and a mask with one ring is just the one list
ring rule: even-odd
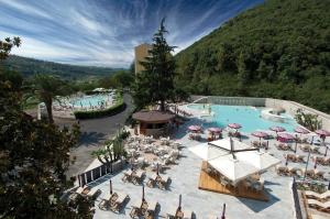
{"label": "large dark leafy tree filling the left foreground", "polygon": [[92,218],[91,200],[79,197],[69,206],[62,198],[73,185],[65,173],[78,127],[59,129],[22,111],[14,78],[0,73],[0,217]]}

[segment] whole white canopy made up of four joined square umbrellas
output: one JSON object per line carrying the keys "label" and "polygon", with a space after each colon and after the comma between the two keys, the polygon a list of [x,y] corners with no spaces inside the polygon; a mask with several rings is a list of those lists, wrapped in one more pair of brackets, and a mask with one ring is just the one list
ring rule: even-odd
{"label": "whole white canopy made up of four joined square umbrellas", "polygon": [[202,143],[189,150],[233,184],[280,163],[280,160],[268,153],[258,152],[257,149],[230,138]]}

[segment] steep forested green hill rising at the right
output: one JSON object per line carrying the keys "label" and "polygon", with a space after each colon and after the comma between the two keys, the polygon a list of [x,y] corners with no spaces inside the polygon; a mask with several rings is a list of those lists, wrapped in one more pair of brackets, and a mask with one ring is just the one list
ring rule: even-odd
{"label": "steep forested green hill rising at the right", "polygon": [[190,94],[289,99],[330,112],[330,1],[268,0],[176,55]]}

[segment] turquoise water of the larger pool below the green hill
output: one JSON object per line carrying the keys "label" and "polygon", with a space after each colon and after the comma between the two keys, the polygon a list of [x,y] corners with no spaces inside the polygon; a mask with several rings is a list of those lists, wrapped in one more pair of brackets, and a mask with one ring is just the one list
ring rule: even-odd
{"label": "turquoise water of the larger pool below the green hill", "polygon": [[[206,110],[208,111],[208,106],[201,103],[189,105],[188,108]],[[254,108],[246,106],[222,106],[222,105],[211,105],[211,111],[213,117],[211,118],[211,123],[209,125],[217,125],[226,128],[229,123],[240,123],[242,128],[240,131],[251,133],[255,130],[268,130],[270,127],[279,125],[286,129],[288,132],[293,132],[298,125],[294,118],[288,114],[280,114],[286,117],[285,122],[275,122],[261,118],[261,111],[264,108]]]}

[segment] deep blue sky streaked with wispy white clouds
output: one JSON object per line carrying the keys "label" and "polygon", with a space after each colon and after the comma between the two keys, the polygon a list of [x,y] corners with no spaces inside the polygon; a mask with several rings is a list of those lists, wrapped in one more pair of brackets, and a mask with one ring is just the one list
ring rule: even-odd
{"label": "deep blue sky streaked with wispy white clouds", "polygon": [[160,22],[175,53],[263,0],[0,0],[0,39],[12,54],[75,65],[128,67]]}

